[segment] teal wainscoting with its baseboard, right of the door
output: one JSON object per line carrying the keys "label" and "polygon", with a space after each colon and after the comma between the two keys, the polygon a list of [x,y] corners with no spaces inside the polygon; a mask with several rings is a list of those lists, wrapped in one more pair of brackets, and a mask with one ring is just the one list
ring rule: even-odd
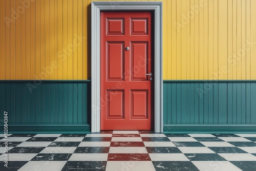
{"label": "teal wainscoting with its baseboard, right of the door", "polygon": [[256,80],[164,80],[165,133],[256,133]]}

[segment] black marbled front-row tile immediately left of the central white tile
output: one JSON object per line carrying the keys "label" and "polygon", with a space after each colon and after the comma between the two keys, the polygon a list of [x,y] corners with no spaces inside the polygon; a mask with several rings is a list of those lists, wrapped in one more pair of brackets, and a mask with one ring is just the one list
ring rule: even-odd
{"label": "black marbled front-row tile immediately left of the central white tile", "polygon": [[[98,170],[104,171],[106,161],[68,161],[61,171],[70,170]],[[113,170],[114,171],[114,170]]]}

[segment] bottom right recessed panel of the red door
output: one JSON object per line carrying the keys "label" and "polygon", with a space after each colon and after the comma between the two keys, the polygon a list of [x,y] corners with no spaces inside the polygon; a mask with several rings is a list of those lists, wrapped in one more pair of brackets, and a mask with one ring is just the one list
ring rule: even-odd
{"label": "bottom right recessed panel of the red door", "polygon": [[147,118],[148,102],[147,90],[131,91],[131,118]]}

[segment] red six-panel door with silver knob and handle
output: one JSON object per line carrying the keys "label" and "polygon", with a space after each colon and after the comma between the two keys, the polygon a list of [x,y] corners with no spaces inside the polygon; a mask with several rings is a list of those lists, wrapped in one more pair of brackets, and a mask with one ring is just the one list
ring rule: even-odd
{"label": "red six-panel door with silver knob and handle", "polygon": [[151,12],[104,11],[100,24],[101,130],[151,130]]}

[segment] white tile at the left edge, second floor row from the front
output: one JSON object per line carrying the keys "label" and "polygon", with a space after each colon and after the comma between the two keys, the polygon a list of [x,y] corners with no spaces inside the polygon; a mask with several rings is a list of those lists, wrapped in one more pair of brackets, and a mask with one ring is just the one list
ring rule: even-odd
{"label": "white tile at the left edge, second floor row from the front", "polygon": [[[0,156],[0,161],[4,161],[5,154]],[[8,154],[8,161],[30,161],[33,159],[37,153],[9,153]]]}

